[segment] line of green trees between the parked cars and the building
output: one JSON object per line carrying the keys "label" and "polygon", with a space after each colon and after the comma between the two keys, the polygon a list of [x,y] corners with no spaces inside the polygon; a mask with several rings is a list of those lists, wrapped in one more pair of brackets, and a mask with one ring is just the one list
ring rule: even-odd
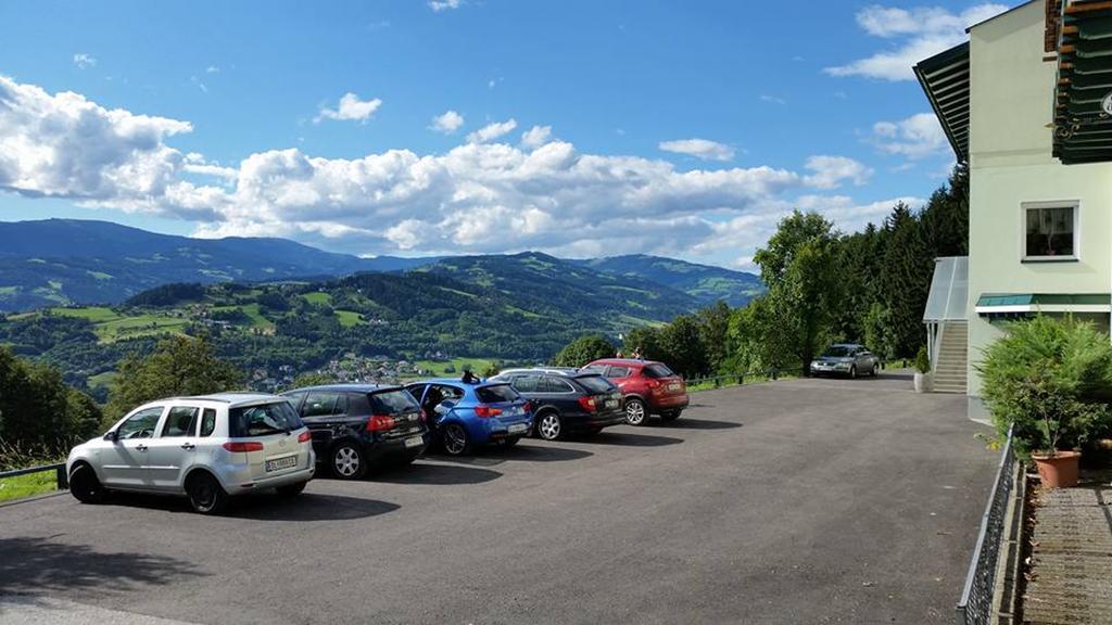
{"label": "line of green trees between the parked cars and the building", "polygon": [[743,308],[718,302],[672,323],[636,328],[622,345],[580,337],[554,358],[582,366],[639,348],[685,377],[768,369],[807,375],[834,343],[862,343],[888,359],[913,358],[926,341],[923,309],[935,258],[969,254],[969,172],[919,210],[897,202],[880,225],[843,234],[817,211],[798,210],[757,250],[766,291]]}

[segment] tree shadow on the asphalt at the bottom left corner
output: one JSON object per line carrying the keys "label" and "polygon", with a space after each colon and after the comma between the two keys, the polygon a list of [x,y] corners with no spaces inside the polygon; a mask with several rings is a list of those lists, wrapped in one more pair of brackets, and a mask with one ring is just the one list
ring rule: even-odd
{"label": "tree shadow on the asphalt at the bottom left corner", "polygon": [[140,553],[98,553],[88,545],[56,543],[49,537],[0,538],[0,595],[57,595],[96,588],[115,593],[205,575],[186,560]]}

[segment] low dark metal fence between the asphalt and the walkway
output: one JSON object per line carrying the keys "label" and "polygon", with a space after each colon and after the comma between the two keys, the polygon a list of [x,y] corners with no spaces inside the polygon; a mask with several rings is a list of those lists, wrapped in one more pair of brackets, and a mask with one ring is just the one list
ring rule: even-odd
{"label": "low dark metal fence between the asphalt and the walkway", "polygon": [[1015,467],[1015,452],[1012,448],[1012,433],[1009,430],[1004,453],[996,469],[989,504],[981,517],[981,532],[976,537],[970,571],[965,576],[962,598],[957,602],[957,623],[961,625],[987,625],[992,622],[993,589],[1000,562],[1002,535],[1007,503],[1012,495],[1012,472]]}

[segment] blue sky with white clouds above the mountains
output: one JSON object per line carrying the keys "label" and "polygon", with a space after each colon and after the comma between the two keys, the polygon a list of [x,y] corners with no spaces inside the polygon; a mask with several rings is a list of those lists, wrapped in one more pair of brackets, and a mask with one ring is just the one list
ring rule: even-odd
{"label": "blue sky with white clouds above the mountains", "polygon": [[942,183],[910,65],[1005,8],[6,2],[0,219],[744,268]]}

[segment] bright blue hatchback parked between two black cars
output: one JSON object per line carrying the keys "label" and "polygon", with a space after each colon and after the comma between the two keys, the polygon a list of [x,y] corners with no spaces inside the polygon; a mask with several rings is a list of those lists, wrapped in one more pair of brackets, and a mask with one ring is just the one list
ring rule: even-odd
{"label": "bright blue hatchback parked between two black cars", "polygon": [[451,456],[489,443],[516,445],[533,427],[528,400],[505,381],[428,379],[406,385],[428,416],[440,447]]}

